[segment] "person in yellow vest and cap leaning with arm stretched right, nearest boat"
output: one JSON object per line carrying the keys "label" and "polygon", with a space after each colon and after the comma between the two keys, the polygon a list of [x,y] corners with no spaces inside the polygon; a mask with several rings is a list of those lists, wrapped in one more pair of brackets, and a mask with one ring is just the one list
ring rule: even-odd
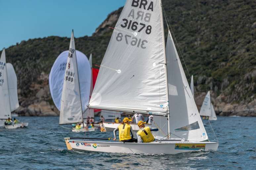
{"label": "person in yellow vest and cap leaning with arm stretched right, nearest boat", "polygon": [[139,121],[138,126],[140,130],[137,132],[137,137],[138,137],[138,143],[149,143],[153,142],[155,140],[154,136],[152,135],[151,131],[158,131],[157,128],[151,128],[151,127],[145,127],[144,121]]}

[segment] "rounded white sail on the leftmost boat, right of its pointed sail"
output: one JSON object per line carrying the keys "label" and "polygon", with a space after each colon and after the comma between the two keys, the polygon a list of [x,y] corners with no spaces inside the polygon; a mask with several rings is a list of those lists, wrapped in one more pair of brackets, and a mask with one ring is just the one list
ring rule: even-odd
{"label": "rounded white sail on the leftmost boat, right of its pointed sail", "polygon": [[17,76],[13,68],[13,65],[11,63],[7,63],[6,68],[8,73],[7,75],[8,75],[11,111],[14,111],[20,107],[19,99],[18,99]]}

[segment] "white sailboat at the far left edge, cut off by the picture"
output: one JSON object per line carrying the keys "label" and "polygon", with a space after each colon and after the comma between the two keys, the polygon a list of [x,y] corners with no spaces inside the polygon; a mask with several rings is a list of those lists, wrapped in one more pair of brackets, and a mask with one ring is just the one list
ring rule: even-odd
{"label": "white sailboat at the far left edge, cut off by the picture", "polygon": [[[11,112],[20,107],[18,101],[17,76],[11,63],[6,63],[5,49],[0,58],[0,119],[12,118]],[[2,121],[3,122],[3,121]],[[6,129],[27,127],[28,123],[4,125]]]}

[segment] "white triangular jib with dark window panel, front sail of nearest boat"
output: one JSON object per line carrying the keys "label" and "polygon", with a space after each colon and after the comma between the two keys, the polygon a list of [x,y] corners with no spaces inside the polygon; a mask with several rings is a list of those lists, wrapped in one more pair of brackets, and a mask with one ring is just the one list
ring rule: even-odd
{"label": "white triangular jib with dark window panel, front sail of nearest boat", "polygon": [[166,43],[166,59],[171,137],[179,136],[190,141],[208,139],[170,31]]}

